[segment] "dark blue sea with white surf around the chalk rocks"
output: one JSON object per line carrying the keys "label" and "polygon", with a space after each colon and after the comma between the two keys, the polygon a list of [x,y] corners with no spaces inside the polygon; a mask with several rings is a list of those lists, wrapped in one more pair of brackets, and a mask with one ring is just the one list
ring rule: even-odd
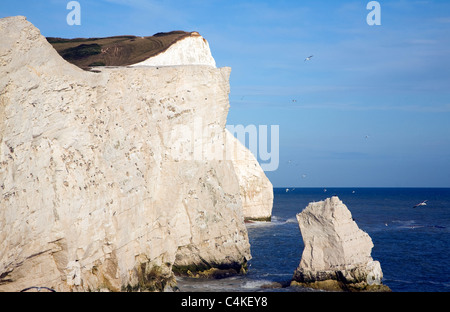
{"label": "dark blue sea with white surf around the chalk rocks", "polygon": [[[372,258],[394,292],[450,291],[450,188],[275,188],[272,222],[247,223],[252,260],[245,276],[178,278],[181,291],[312,291],[265,288],[292,278],[303,251],[296,214],[308,203],[339,196],[372,238]],[[413,208],[427,200],[426,206]]]}

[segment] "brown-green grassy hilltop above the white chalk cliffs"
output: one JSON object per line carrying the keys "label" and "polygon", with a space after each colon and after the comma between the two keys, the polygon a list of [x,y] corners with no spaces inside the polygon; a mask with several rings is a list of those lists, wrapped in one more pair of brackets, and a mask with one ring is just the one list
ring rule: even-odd
{"label": "brown-green grassy hilltop above the white chalk cliffs", "polygon": [[47,41],[66,61],[88,69],[90,66],[136,64],[164,52],[175,42],[190,35],[190,32],[171,31],[149,37],[114,36],[75,39],[48,37]]}

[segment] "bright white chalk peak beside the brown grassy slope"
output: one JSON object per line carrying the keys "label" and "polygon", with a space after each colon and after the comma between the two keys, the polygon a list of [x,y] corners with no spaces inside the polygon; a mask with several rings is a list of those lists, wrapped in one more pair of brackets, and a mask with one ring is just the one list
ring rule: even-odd
{"label": "bright white chalk peak beside the brown grassy slope", "polygon": [[172,44],[166,51],[131,66],[208,65],[216,67],[208,41],[192,32]]}

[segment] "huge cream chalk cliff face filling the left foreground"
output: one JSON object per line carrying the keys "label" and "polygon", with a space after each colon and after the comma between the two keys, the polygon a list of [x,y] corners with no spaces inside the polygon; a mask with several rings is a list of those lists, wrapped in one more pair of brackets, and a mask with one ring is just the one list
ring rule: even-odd
{"label": "huge cream chalk cliff face filling the left foreground", "polygon": [[64,61],[0,20],[0,291],[163,290],[251,258],[224,149],[229,68]]}

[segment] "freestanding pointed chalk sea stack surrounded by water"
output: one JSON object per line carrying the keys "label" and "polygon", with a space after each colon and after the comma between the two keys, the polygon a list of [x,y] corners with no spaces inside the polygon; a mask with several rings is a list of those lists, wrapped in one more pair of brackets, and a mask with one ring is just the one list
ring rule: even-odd
{"label": "freestanding pointed chalk sea stack surrounded by water", "polygon": [[380,263],[371,256],[370,236],[347,206],[333,196],[297,214],[304,250],[293,285],[330,291],[390,291]]}

